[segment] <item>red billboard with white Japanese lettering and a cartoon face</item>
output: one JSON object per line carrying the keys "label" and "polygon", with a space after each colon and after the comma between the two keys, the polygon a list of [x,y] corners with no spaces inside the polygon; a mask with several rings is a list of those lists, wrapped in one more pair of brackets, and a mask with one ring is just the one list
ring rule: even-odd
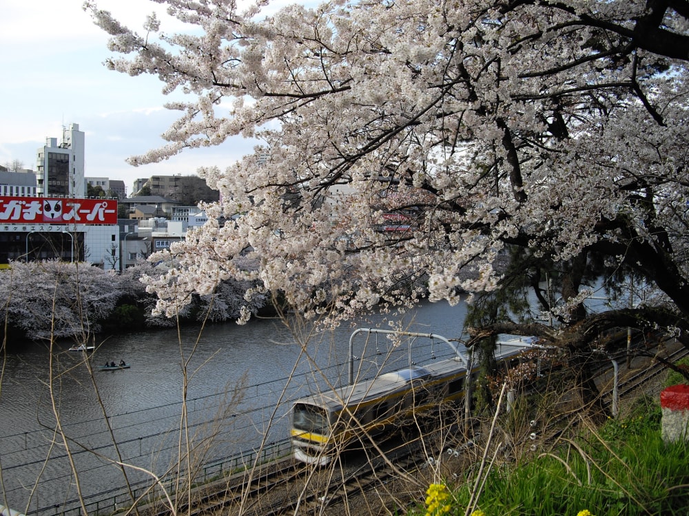
{"label": "red billboard with white Japanese lettering and a cartoon face", "polygon": [[117,224],[117,200],[0,196],[0,224]]}

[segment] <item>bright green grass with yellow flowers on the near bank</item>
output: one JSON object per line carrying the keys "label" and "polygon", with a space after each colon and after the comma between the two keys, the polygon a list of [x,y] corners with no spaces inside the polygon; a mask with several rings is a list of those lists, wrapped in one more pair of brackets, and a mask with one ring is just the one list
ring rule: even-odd
{"label": "bright green grass with yellow flowers on the near bank", "polygon": [[[573,438],[524,455],[500,454],[481,481],[480,497],[468,469],[451,482],[432,484],[423,507],[411,515],[475,516],[686,516],[689,446],[661,439],[659,402],[641,398],[620,420],[601,427],[581,421]],[[471,504],[471,506],[469,506]],[[469,507],[469,509],[467,509]]]}

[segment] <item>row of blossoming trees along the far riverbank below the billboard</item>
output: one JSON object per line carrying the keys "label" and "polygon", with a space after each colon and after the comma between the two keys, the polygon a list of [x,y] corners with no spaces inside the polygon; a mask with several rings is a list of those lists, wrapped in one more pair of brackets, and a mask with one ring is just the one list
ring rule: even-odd
{"label": "row of blossoming trees along the far riverbank below the billboard", "polygon": [[[174,323],[154,312],[156,294],[146,292],[140,278],[161,274],[165,264],[146,261],[122,274],[85,263],[63,261],[13,261],[0,270],[0,315],[6,328],[5,341],[77,338],[164,327]],[[196,296],[176,316],[182,323],[223,322],[240,319],[243,312],[264,308],[267,297],[245,292],[249,282],[223,281],[214,291]]]}

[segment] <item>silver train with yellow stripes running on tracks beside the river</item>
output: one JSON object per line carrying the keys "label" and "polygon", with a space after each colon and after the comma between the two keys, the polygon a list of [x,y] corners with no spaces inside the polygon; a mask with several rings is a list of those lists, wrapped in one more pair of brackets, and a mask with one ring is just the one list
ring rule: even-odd
{"label": "silver train with yellow stripes running on tracks beside the river", "polygon": [[[508,367],[528,347],[526,342],[499,346],[495,358]],[[455,357],[412,366],[296,400],[291,413],[294,458],[325,466],[357,440],[365,447],[370,438],[410,424],[439,402],[460,402],[466,390],[464,363]],[[477,375],[473,367],[471,385]]]}

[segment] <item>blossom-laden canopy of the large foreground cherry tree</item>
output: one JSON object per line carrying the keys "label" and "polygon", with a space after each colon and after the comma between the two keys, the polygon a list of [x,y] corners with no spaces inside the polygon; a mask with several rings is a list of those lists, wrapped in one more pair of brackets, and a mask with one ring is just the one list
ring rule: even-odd
{"label": "blossom-laden canopy of the large foreground cherry tree", "polygon": [[[267,1],[156,1],[193,30],[168,34],[152,16],[139,34],[85,4],[126,54],[107,66],[189,99],[167,105],[180,113],[167,144],[130,162],[256,141],[199,171],[222,201],[175,244],[174,272],[149,277],[160,310],[232,277],[311,315],[455,303],[499,288],[494,264],[517,248],[561,272],[566,304],[548,308],[570,341],[689,329],[688,2],[335,0],[267,14]],[[391,213],[409,228],[380,230]],[[664,302],[587,315],[593,261]],[[506,330],[554,336],[491,327]]]}

